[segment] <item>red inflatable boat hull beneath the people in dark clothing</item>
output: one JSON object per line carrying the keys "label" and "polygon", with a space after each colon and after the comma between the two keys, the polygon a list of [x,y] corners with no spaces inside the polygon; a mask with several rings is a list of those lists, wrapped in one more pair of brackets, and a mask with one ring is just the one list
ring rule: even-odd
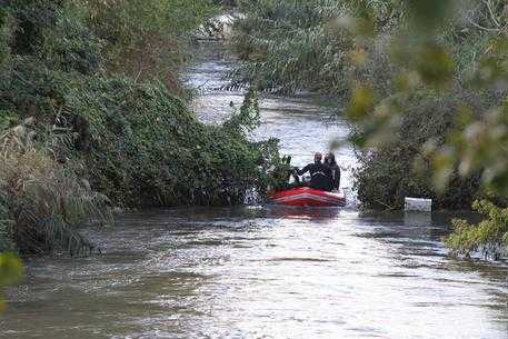
{"label": "red inflatable boat hull beneath the people in dark clothing", "polygon": [[346,206],[346,196],[343,193],[327,192],[310,187],[298,187],[283,191],[276,191],[269,196],[269,200],[272,203],[286,206]]}

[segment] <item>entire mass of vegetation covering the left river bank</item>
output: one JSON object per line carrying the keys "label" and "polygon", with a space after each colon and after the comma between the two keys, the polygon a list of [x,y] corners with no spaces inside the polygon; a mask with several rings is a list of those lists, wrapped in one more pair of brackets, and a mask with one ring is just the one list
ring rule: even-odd
{"label": "entire mass of vegetation covering the left river bank", "polygon": [[89,252],[77,228],[107,206],[241,203],[266,188],[277,144],[248,141],[256,102],[206,126],[176,96],[173,57],[213,12],[205,0],[2,6],[0,220],[12,221],[0,225],[19,250]]}

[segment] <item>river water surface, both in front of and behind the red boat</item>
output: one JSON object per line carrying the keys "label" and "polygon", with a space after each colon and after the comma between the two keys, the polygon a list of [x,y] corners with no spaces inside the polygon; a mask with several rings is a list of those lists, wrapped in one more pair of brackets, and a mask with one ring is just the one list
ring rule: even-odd
{"label": "river water surface, both in front of and behind the red boat", "polygon": [[[241,94],[220,90],[230,58],[201,47],[188,83],[216,123]],[[269,97],[252,138],[303,164],[347,124],[312,96]],[[351,149],[339,150],[351,186]],[[0,338],[508,338],[508,267],[446,257],[450,216],[352,207],[175,208],[90,228],[102,256],[42,258],[9,290]]]}

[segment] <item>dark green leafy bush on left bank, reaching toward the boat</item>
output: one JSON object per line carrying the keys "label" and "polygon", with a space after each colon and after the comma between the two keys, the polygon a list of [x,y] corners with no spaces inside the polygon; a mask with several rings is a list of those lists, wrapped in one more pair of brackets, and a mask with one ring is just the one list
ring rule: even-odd
{"label": "dark green leafy bush on left bank, reaching toward the boat", "polygon": [[206,126],[162,86],[94,79],[70,90],[63,112],[84,119],[90,181],[116,203],[241,203],[262,185],[268,154],[247,140],[242,121]]}

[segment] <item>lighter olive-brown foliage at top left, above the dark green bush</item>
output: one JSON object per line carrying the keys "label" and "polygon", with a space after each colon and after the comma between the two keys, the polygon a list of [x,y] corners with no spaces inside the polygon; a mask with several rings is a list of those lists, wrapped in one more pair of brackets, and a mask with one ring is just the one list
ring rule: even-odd
{"label": "lighter olive-brown foliage at top left, above the dark green bush", "polygon": [[109,73],[161,80],[173,91],[180,89],[175,72],[189,58],[189,32],[218,10],[207,0],[71,0],[69,7],[100,39]]}

